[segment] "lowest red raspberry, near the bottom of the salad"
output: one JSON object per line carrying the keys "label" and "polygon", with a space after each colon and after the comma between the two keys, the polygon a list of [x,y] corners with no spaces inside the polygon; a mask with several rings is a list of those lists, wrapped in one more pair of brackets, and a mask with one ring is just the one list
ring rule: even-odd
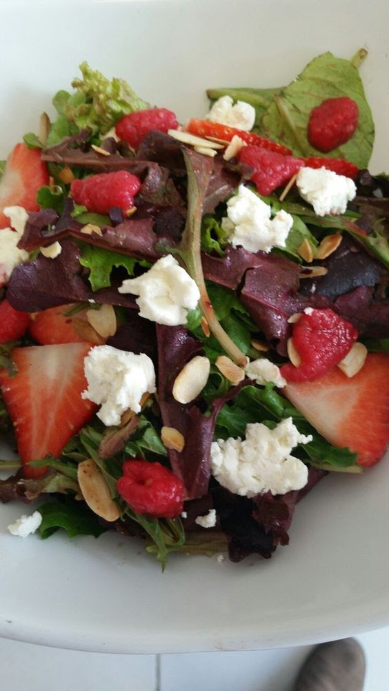
{"label": "lowest red raspberry, near the bottom of the salad", "polygon": [[174,518],[183,509],[184,483],[160,463],[126,461],[117,491],[136,513]]}

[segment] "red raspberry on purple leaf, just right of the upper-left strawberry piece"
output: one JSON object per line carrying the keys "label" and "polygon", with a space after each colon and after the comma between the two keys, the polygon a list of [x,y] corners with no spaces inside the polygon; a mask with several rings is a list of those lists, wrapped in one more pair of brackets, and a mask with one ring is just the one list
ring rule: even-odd
{"label": "red raspberry on purple leaf, just right of the upper-left strawberry piece", "polygon": [[124,212],[131,209],[141,184],[137,176],[127,171],[116,171],[73,180],[70,191],[76,204],[82,204],[96,214],[109,214],[112,207],[119,207]]}

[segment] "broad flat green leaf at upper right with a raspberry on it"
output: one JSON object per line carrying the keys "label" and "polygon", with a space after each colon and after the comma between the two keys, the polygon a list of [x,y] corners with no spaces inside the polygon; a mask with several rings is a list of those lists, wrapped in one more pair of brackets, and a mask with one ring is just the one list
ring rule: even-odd
{"label": "broad flat green leaf at upper right with a raspberry on it", "polygon": [[314,58],[289,86],[274,96],[262,118],[262,133],[289,146],[296,156],[318,155],[307,140],[310,113],[324,100],[340,96],[357,102],[359,121],[352,138],[328,155],[367,168],[374,142],[370,106],[354,61],[334,57],[332,53]]}

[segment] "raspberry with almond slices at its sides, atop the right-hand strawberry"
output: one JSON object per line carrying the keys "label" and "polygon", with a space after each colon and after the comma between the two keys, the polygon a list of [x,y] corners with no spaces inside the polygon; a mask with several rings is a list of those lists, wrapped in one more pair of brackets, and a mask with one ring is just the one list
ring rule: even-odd
{"label": "raspberry with almond slices at its sides, atop the right-hand strawberry", "polygon": [[293,343],[301,365],[287,363],[281,373],[287,381],[311,381],[321,377],[348,354],[358,338],[357,329],[332,310],[312,310],[293,325]]}

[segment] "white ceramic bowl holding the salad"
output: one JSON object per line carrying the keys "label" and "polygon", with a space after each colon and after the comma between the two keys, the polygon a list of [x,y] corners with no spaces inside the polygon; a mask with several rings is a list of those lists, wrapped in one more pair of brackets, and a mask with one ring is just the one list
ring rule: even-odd
{"label": "white ceramic bowl holding the salad", "polygon": [[[377,124],[372,171],[389,169],[389,4],[375,0],[0,0],[1,151],[37,129],[50,95],[88,59],[181,119],[207,86],[274,86],[332,50],[362,67]],[[372,392],[374,395],[374,392]],[[361,411],[363,415],[363,410]],[[389,624],[389,458],[322,482],[268,562],[171,558],[162,575],[117,535],[19,540],[0,508],[0,636],[81,650],[184,652],[302,645]]]}

